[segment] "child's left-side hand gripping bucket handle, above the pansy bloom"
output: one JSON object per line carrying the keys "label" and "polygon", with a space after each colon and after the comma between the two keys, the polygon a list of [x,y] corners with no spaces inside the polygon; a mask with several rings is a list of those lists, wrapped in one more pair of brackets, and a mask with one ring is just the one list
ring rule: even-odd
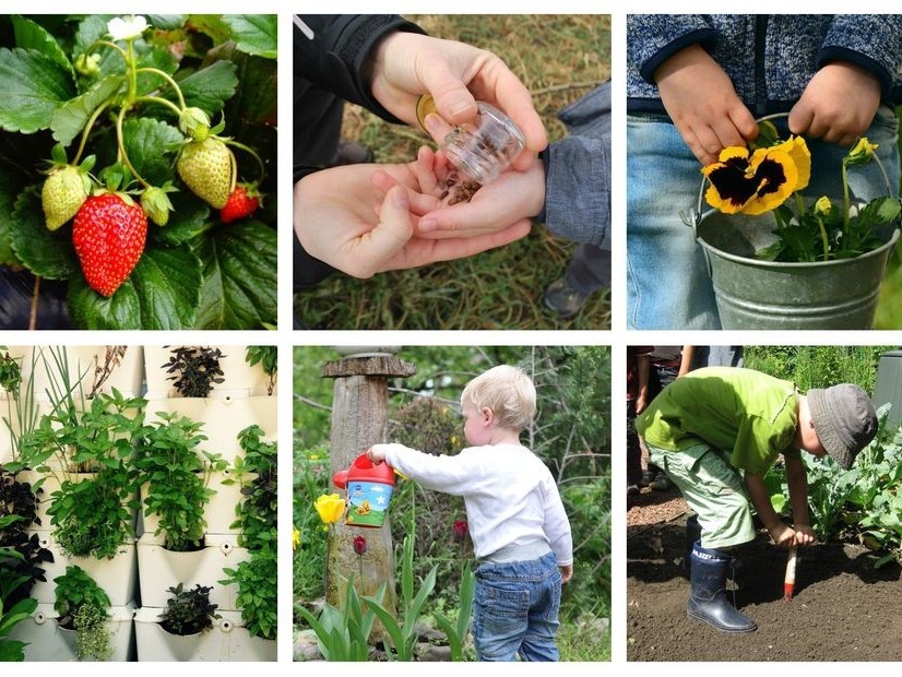
{"label": "child's left-side hand gripping bucket handle, above the pansy bloom", "polygon": [[732,145],[746,145],[758,124],[724,70],[700,45],[664,61],[654,73],[661,100],[680,136],[703,165]]}

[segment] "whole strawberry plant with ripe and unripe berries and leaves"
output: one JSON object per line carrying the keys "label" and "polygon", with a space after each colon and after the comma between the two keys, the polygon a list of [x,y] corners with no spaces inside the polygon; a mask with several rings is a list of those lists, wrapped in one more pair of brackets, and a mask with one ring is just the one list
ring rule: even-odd
{"label": "whole strawberry plant with ripe and unripe berries and leaves", "polygon": [[0,16],[0,266],[32,317],[61,288],[84,329],[275,324],[275,15]]}

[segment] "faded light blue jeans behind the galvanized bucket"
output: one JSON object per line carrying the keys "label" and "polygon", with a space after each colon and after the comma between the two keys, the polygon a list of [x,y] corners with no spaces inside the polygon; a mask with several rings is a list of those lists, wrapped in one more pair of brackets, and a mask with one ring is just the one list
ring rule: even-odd
{"label": "faded light blue jeans behind the galvanized bucket", "polygon": [[[787,138],[785,118],[774,123],[781,138]],[[894,111],[881,106],[866,133],[880,145],[877,155],[892,194],[899,194],[898,131]],[[805,195],[842,195],[840,161],[848,149],[817,140],[808,140],[808,147],[811,182]],[[629,116],[627,149],[627,325],[720,329],[704,253],[679,216],[698,210],[702,180],[698,159],[664,115]],[[862,200],[887,194],[876,163],[851,167],[848,186]]]}

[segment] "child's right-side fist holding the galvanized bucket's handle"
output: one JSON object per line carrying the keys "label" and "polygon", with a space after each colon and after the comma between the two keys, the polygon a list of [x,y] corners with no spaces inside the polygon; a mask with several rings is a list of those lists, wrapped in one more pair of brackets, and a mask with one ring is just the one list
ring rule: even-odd
{"label": "child's right-side fist holding the galvanized bucket's handle", "polygon": [[879,81],[857,66],[836,61],[820,69],[790,111],[790,131],[852,145],[880,106]]}

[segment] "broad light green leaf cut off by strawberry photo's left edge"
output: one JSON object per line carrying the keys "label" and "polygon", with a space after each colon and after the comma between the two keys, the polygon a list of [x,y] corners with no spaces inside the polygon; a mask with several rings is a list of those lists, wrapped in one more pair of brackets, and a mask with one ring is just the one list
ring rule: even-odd
{"label": "broad light green leaf cut off by strawberry photo's left edge", "polygon": [[57,108],[75,96],[72,75],[33,49],[0,49],[0,128],[34,133],[50,127]]}

